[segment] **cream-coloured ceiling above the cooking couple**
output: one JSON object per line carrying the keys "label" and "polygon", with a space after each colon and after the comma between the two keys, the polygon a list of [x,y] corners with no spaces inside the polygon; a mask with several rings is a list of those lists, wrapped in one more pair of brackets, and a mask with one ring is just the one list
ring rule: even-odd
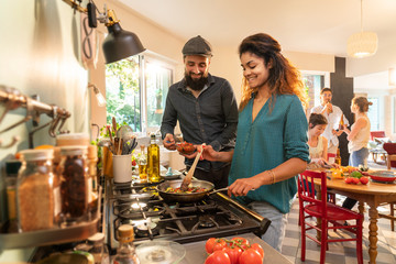
{"label": "cream-coloured ceiling above the cooking couple", "polygon": [[[200,34],[213,46],[238,46],[264,32],[284,51],[346,56],[346,40],[361,29],[360,0],[119,0],[187,41]],[[378,50],[396,46],[396,0],[363,0],[363,30]]]}

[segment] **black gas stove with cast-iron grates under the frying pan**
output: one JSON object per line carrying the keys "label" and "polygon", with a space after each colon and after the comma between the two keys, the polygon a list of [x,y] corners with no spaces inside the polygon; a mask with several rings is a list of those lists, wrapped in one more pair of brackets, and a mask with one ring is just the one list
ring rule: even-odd
{"label": "black gas stove with cast-iron grates under the frying pan", "polygon": [[124,223],[134,227],[135,244],[156,239],[189,243],[251,232],[261,237],[271,223],[223,194],[194,204],[165,202],[154,184],[109,180],[105,213],[112,250],[118,248],[117,229]]}

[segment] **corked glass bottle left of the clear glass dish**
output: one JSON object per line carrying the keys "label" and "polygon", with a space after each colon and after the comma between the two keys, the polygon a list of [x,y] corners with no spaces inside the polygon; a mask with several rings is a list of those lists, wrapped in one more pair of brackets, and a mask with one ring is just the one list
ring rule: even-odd
{"label": "corked glass bottle left of the clear glass dish", "polygon": [[122,224],[117,230],[120,242],[117,254],[112,261],[113,264],[140,264],[135,248],[133,244],[134,233],[131,224]]}

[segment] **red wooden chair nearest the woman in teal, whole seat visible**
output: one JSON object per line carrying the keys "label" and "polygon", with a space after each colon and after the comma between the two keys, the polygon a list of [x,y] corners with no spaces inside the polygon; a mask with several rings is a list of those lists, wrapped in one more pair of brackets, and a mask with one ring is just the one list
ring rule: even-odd
{"label": "red wooden chair nearest the woman in teal, whole seat visible", "polygon": [[[314,179],[321,180],[321,193],[315,196]],[[329,249],[330,242],[343,242],[343,241],[356,241],[356,255],[358,263],[363,263],[362,252],[362,223],[363,216],[345,208],[327,202],[327,177],[323,172],[306,170],[298,175],[298,199],[300,207],[300,222],[301,222],[301,261],[306,257],[306,238],[309,238],[320,244],[320,263],[323,264],[326,260],[326,251]],[[312,183],[312,184],[307,184]],[[321,220],[321,224],[314,224],[306,221],[306,219],[317,218]],[[339,222],[345,220],[355,220],[354,226],[343,226]],[[333,226],[329,226],[332,223]],[[320,241],[307,233],[308,230],[317,230],[321,233]],[[344,230],[354,233],[354,238],[349,239],[330,239],[328,237],[328,230]]]}

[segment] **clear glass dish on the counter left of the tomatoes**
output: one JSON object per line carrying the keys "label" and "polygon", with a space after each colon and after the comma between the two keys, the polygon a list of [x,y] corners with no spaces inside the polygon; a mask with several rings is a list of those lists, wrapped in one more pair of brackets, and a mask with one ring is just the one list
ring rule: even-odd
{"label": "clear glass dish on the counter left of the tomatoes", "polygon": [[185,257],[186,249],[174,241],[148,241],[136,246],[136,255],[141,264],[177,264]]}

